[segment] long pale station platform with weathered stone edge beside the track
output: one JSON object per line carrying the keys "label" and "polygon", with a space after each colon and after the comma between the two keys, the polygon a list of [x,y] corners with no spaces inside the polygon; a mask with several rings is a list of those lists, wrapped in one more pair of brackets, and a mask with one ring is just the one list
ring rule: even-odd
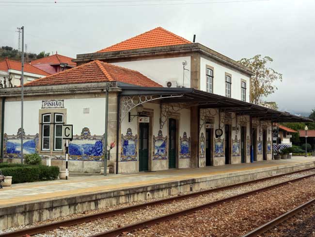
{"label": "long pale station platform with weathered stone edge beside the track", "polygon": [[16,184],[0,189],[0,230],[120,203],[227,186],[312,167],[315,167],[315,157],[292,157],[108,176],[70,173],[68,180]]}

